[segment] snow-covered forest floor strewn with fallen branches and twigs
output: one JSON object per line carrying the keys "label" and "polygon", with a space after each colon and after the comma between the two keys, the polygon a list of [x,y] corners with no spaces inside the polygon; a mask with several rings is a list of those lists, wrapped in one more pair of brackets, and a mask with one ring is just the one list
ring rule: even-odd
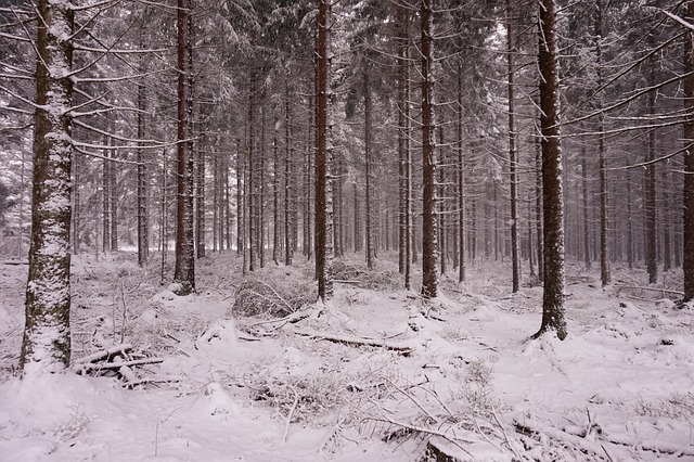
{"label": "snow-covered forest floor strewn with fallen branches and twigs", "polygon": [[322,305],[310,264],[215,254],[179,297],[157,258],[75,257],[74,365],[24,381],[27,268],[0,265],[1,461],[694,460],[694,312],[656,290],[676,273],[603,288],[569,265],[560,342],[529,339],[542,290],[512,295],[509,262],[424,304],[352,256]]}

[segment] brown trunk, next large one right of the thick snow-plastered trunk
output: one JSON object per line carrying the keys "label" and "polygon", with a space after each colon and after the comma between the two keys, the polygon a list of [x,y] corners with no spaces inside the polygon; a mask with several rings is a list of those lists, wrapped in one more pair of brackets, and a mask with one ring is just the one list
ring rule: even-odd
{"label": "brown trunk, next large one right of the thick snow-plastered trunk", "polygon": [[188,75],[191,0],[178,0],[178,130],[176,177],[176,270],[174,282],[177,293],[188,295],[195,291],[195,245],[193,236],[193,153],[191,149],[191,94]]}

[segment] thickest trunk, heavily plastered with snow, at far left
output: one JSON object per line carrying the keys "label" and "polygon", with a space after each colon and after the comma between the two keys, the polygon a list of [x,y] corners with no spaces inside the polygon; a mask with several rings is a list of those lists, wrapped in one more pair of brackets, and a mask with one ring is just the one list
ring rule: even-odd
{"label": "thickest trunk, heavily plastered with snow, at far left", "polygon": [[72,7],[69,0],[38,1],[31,245],[20,359],[24,375],[69,364]]}

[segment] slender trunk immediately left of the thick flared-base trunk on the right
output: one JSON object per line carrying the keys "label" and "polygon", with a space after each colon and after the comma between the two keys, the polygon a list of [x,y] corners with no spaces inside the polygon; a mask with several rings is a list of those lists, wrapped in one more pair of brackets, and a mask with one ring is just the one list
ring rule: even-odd
{"label": "slender trunk immediately left of the thick flared-base trunk on the right", "polygon": [[506,65],[509,91],[509,178],[511,181],[511,261],[513,267],[512,292],[520,290],[520,256],[518,255],[518,174],[516,152],[516,116],[515,116],[515,82],[513,68],[513,26],[511,0],[506,0]]}

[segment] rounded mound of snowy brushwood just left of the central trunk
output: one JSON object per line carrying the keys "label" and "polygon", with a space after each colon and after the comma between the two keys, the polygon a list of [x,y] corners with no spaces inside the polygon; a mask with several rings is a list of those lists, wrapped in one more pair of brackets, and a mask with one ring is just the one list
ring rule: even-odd
{"label": "rounded mound of snowy brushwood just left of the central trunk", "polygon": [[231,311],[236,317],[283,318],[316,301],[314,284],[280,285],[261,280],[244,281]]}

